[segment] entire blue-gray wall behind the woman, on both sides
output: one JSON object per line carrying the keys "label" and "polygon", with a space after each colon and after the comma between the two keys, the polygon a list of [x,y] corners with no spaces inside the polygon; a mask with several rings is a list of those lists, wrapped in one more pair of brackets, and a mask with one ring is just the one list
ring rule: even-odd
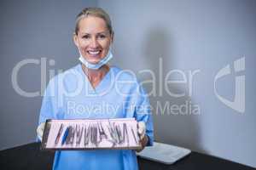
{"label": "entire blue-gray wall behind the woman, on both sides", "polygon": [[[255,69],[256,1],[254,0],[179,0],[179,1],[5,1],[1,4],[1,123],[0,149],[32,142],[38,123],[41,97],[24,98],[12,87],[11,73],[22,59],[55,59],[47,71],[78,63],[72,41],[75,15],[85,6],[108,11],[115,31],[113,65],[130,69],[141,80],[150,78],[144,69],[160,74],[174,69],[200,70],[193,79],[192,95],[188,84],[172,84],[181,98],[150,96],[154,108],[155,139],[177,144],[231,161],[256,167]],[[246,111],[239,113],[221,103],[214,94],[215,75],[225,65],[245,56]],[[49,76],[49,73],[47,73]],[[172,80],[180,79],[173,75]],[[234,71],[218,81],[218,93],[232,100],[235,96]],[[40,66],[26,65],[19,73],[20,88],[40,88]],[[152,89],[145,84],[148,92]],[[200,114],[169,114],[157,105],[198,105]]]}

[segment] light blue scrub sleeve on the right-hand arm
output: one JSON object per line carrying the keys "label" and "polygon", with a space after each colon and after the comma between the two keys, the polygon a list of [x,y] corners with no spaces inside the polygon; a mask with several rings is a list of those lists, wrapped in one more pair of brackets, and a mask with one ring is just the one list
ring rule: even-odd
{"label": "light blue scrub sleeve on the right-hand arm", "polygon": [[148,95],[145,93],[142,87],[140,88],[140,93],[137,95],[136,117],[137,122],[145,122],[146,135],[148,136],[147,146],[151,146],[154,142],[153,115],[151,112]]}

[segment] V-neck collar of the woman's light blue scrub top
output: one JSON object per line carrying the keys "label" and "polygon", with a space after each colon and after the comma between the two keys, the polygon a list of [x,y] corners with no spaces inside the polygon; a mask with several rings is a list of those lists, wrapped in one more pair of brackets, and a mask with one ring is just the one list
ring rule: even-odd
{"label": "V-neck collar of the woman's light blue scrub top", "polygon": [[89,78],[87,77],[87,75],[84,73],[82,65],[79,64],[79,71],[82,72],[82,74],[84,75],[84,79],[85,79],[85,85],[87,85],[88,90],[90,93],[92,94],[102,94],[104,93],[105,90],[107,90],[109,88],[109,86],[111,86],[111,72],[112,72],[112,67],[109,67],[108,72],[106,73],[106,75],[104,77],[102,77],[101,82],[99,82],[95,88],[92,87]]}

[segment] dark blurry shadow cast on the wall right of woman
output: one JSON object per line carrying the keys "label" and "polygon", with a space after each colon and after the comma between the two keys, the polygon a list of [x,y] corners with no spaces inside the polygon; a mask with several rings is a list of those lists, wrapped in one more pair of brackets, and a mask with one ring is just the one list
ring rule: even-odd
{"label": "dark blurry shadow cast on the wall right of woman", "polygon": [[[167,73],[178,69],[175,41],[173,41],[170,31],[161,27],[149,29],[143,44],[145,44],[144,60],[149,70],[153,71],[155,75],[154,85],[152,83],[143,84],[150,95],[149,99],[153,107],[155,140],[205,152],[201,144],[199,123],[201,111],[197,110],[197,114],[195,108],[192,111],[194,104],[193,99],[189,97],[188,87],[184,84],[169,83],[165,88]],[[185,71],[183,72],[187,75]],[[142,82],[148,78],[150,79],[150,76],[139,77]],[[173,72],[168,80],[180,80],[180,78],[179,74]],[[183,97],[175,97],[175,94],[183,93]]]}

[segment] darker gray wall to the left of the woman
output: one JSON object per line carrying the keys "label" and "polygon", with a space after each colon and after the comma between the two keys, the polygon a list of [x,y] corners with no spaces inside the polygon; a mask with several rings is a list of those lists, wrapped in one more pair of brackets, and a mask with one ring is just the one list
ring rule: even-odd
{"label": "darker gray wall to the left of the woman", "polygon": [[[96,1],[1,1],[0,149],[36,139],[42,97],[26,98],[15,92],[11,81],[15,65],[23,59],[46,58],[49,81],[49,71],[66,70],[79,63],[73,30],[76,15],[86,6],[96,6]],[[49,65],[50,59],[55,65]],[[40,91],[40,72],[40,65],[23,66],[18,75],[20,88]]]}

